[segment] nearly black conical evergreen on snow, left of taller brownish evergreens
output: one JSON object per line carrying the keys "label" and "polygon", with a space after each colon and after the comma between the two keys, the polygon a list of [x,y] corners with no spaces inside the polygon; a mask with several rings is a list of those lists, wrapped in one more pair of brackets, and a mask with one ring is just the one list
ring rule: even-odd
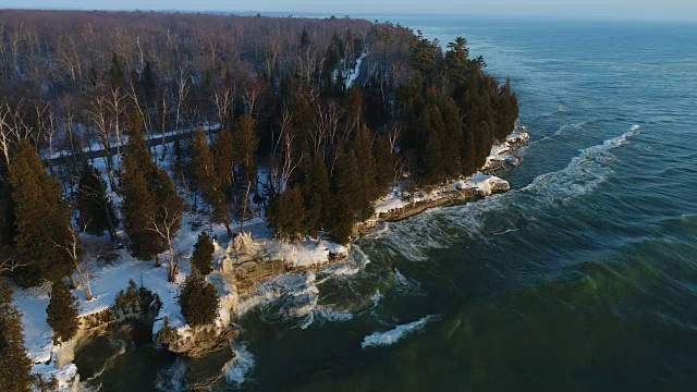
{"label": "nearly black conical evergreen on snow, left of taller brownish evergreens", "polygon": [[117,216],[111,200],[107,196],[107,183],[97,168],[85,162],[81,169],[77,183],[77,210],[80,225],[84,232],[102,235],[109,231],[115,240]]}

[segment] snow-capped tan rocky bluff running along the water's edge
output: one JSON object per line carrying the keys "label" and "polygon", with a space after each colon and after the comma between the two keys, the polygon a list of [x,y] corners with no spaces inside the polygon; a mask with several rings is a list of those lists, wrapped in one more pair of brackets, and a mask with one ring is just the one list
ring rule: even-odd
{"label": "snow-capped tan rocky bluff running along the water's edge", "polygon": [[[518,123],[505,140],[494,144],[487,163],[476,174],[453,179],[411,194],[402,192],[400,187],[393,187],[387,196],[375,203],[376,211],[372,218],[354,224],[351,242],[355,242],[383,222],[405,220],[428,209],[463,204],[509,191],[508,181],[494,174],[517,166],[521,158],[515,156],[515,151],[528,140],[529,134],[525,126]],[[192,240],[188,238],[188,242]],[[193,247],[193,243],[191,245]],[[255,240],[252,232],[241,233],[231,238],[224,248],[215,241],[213,246],[215,271],[207,277],[207,281],[220,295],[217,320],[212,324],[198,327],[191,327],[185,322],[174,324],[176,339],[162,345],[173,353],[191,357],[230,347],[233,353],[231,363],[237,359],[231,344],[236,332],[233,327],[234,318],[282,296],[283,285],[276,284],[276,281],[283,275],[301,280],[307,278],[303,277],[304,274],[311,274],[314,278],[314,270],[341,262],[348,256],[351,248],[351,244],[343,246],[325,238],[306,237],[295,244],[270,238]],[[180,273],[180,278],[184,274]],[[176,283],[181,282],[183,279],[179,279]],[[112,323],[129,319],[151,323],[152,339],[157,340],[158,332],[164,327],[164,318],[172,322],[181,315],[176,315],[176,311],[172,315],[174,309],[163,306],[167,303],[166,305],[171,307],[170,303],[175,298],[171,287],[169,291],[167,287],[151,287],[148,284],[144,284],[144,287],[154,295],[151,303],[126,309],[112,304],[97,311],[81,315],[77,335],[69,342],[53,345],[50,348],[50,358],[35,359],[33,373],[45,380],[56,378],[59,390],[71,390],[80,382],[78,370],[73,363],[76,350],[89,335]]]}

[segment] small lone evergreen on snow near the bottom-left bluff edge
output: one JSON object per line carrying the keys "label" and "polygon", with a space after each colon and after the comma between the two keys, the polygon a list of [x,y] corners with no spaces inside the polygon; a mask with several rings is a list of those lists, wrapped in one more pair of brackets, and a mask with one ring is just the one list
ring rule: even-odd
{"label": "small lone evergreen on snow near the bottom-left bluff edge", "polygon": [[77,298],[63,282],[53,282],[46,308],[46,322],[53,330],[53,342],[68,342],[77,333]]}

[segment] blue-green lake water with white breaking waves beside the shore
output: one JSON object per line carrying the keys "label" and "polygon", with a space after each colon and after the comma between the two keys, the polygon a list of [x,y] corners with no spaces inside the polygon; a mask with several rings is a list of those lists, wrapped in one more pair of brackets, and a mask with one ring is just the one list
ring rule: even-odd
{"label": "blue-green lake water with white breaking waves beside the shore", "polygon": [[[387,224],[286,283],[240,320],[219,387],[694,391],[697,25],[392,21],[465,36],[512,79],[531,134],[513,191]],[[172,389],[196,366],[151,371]]]}

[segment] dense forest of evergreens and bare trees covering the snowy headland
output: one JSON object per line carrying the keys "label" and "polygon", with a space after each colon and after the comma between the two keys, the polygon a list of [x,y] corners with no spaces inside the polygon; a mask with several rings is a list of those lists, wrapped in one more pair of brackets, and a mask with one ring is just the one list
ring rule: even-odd
{"label": "dense forest of evergreens and bare trees covering the snowy headland", "polygon": [[511,133],[486,65],[377,21],[2,10],[2,274],[84,285],[85,234],[172,256],[200,208],[230,237],[257,205],[279,240],[347,243],[389,187],[470,175]]}

